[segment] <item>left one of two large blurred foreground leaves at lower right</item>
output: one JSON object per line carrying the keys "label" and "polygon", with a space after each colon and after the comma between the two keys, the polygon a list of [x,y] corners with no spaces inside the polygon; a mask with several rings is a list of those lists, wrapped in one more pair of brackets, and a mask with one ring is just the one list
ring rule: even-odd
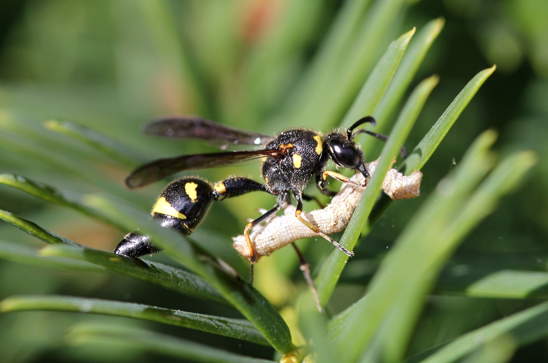
{"label": "left one of two large blurred foreground leaves at lower right", "polygon": [[[447,215],[460,205],[459,200],[469,194],[488,172],[492,164],[487,156],[488,148],[494,141],[494,133],[484,133],[476,140],[461,165],[452,173],[451,181],[441,183],[445,188],[438,188],[439,191],[431,195],[420,212],[410,220],[408,228],[402,232],[395,247],[381,263],[366,296],[333,318],[331,334],[336,337],[336,341],[344,342],[345,350],[341,354],[345,361],[356,361],[363,350],[369,347],[374,334],[390,315],[402,290],[405,290],[404,287],[412,283],[410,271],[416,270],[416,261],[424,260],[424,254],[431,250],[430,243],[443,231],[440,229],[444,225],[433,221],[441,217],[447,219]],[[434,258],[435,252],[431,250],[428,256]],[[420,265],[430,266],[427,263]]]}

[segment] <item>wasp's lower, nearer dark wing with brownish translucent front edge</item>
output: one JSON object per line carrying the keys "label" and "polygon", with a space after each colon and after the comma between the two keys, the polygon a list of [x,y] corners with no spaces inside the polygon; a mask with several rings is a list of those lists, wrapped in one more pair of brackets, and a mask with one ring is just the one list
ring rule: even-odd
{"label": "wasp's lower, nearer dark wing with brownish translucent front edge", "polygon": [[234,152],[216,152],[214,154],[183,155],[167,159],[159,159],[141,166],[125,179],[129,188],[139,188],[169,175],[192,169],[206,169],[226,166],[261,157],[278,157],[280,150],[249,150]]}

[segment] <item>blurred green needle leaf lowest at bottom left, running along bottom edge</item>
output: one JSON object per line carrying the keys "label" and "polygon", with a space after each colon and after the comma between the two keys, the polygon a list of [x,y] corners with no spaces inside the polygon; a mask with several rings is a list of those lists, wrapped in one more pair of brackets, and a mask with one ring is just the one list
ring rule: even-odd
{"label": "blurred green needle leaf lowest at bottom left, running along bottom edge", "polygon": [[250,358],[165,334],[140,328],[118,325],[78,324],[67,333],[72,344],[121,345],[130,350],[142,350],[175,359],[205,363],[274,363],[270,360]]}

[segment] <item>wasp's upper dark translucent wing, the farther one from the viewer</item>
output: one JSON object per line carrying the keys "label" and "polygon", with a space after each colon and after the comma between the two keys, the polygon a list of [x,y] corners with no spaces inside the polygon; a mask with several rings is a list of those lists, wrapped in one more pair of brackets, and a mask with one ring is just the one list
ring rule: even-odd
{"label": "wasp's upper dark translucent wing, the farther one from the viewer", "polygon": [[148,124],[145,133],[169,138],[200,139],[214,144],[266,145],[268,135],[227,127],[196,116],[162,118]]}

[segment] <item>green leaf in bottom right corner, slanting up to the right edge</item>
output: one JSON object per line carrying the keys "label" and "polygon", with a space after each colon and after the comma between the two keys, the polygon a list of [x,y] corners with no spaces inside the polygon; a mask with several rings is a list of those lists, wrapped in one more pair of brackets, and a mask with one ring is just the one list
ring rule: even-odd
{"label": "green leaf in bottom right corner, slanting up to the right edge", "polygon": [[406,363],[455,362],[486,344],[496,342],[501,337],[508,336],[513,344],[524,346],[546,335],[548,335],[548,303],[543,303],[466,333],[442,347],[410,358],[406,360]]}

